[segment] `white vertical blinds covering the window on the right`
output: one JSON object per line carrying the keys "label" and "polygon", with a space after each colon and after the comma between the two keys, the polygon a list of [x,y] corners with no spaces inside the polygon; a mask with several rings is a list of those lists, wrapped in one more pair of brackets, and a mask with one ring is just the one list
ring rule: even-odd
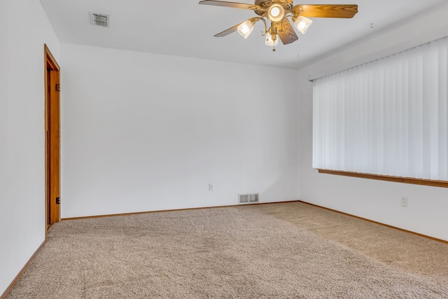
{"label": "white vertical blinds covering the window on the right", "polygon": [[313,167],[448,181],[448,36],[313,85]]}

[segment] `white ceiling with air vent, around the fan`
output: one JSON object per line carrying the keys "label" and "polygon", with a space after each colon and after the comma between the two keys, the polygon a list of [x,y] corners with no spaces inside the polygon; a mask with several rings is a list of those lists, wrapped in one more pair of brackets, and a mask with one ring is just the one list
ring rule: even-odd
{"label": "white ceiling with air vent, around the fan", "polygon": [[[237,1],[237,0],[233,0]],[[447,0],[307,0],[294,4],[358,4],[352,19],[312,18],[307,34],[272,52],[257,22],[245,40],[237,32],[214,34],[255,13],[238,8],[199,5],[199,0],[41,0],[62,43],[262,64],[298,69],[337,48],[386,30]],[[241,0],[243,3],[252,1]],[[111,15],[111,27],[90,25],[92,13]],[[373,23],[373,29],[370,27]]]}

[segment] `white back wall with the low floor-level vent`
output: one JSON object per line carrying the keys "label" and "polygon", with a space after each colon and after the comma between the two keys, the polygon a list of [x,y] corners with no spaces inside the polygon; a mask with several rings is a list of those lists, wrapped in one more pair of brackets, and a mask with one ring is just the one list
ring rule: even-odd
{"label": "white back wall with the low floor-level vent", "polygon": [[295,71],[61,52],[62,218],[297,200]]}

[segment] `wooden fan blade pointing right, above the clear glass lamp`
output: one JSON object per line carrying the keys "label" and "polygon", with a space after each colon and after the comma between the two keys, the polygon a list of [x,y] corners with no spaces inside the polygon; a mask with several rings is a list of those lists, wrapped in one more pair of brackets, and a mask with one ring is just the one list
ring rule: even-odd
{"label": "wooden fan blade pointing right, above the clear glass lamp", "polygon": [[302,8],[303,17],[309,18],[353,18],[358,13],[358,6],[351,4],[300,4],[293,7],[295,13]]}

